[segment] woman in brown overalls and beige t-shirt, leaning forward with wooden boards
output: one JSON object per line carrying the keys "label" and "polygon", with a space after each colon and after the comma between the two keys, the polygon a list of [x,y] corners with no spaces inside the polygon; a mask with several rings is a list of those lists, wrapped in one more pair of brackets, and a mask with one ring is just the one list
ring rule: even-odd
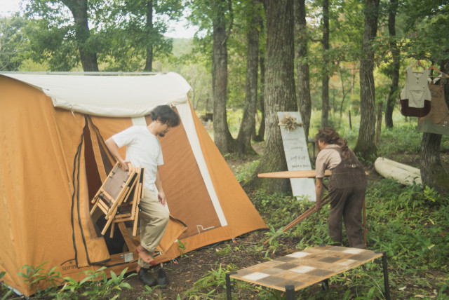
{"label": "woman in brown overalls and beige t-shirt, leaning forward with wooden boards", "polygon": [[365,199],[367,178],[363,165],[333,128],[321,128],[315,136],[319,149],[316,156],[316,207],[321,207],[324,171],[329,178],[329,236],[342,243],[342,221],[346,229],[349,247],[365,248],[362,229],[362,206]]}

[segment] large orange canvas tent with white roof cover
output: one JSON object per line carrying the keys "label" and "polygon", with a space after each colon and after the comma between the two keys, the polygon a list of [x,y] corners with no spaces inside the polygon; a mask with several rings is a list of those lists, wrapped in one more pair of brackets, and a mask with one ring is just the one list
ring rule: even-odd
{"label": "large orange canvas tent with white roof cover", "polygon": [[72,278],[135,268],[139,237],[124,226],[102,236],[104,215],[91,217],[90,200],[114,166],[105,139],[146,125],[159,104],[174,107],[182,124],[160,139],[173,218],[156,261],[266,228],[190,106],[189,89],[174,73],[0,73],[0,271],[9,286],[34,294],[18,272],[44,262]]}

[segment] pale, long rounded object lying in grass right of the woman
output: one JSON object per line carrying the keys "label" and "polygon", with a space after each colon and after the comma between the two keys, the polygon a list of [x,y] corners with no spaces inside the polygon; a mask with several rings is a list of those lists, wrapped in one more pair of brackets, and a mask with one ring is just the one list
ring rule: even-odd
{"label": "pale, long rounded object lying in grass right of the woman", "polygon": [[378,157],[374,163],[374,168],[383,177],[394,179],[400,184],[411,186],[414,183],[422,183],[420,169],[391,161],[388,158]]}

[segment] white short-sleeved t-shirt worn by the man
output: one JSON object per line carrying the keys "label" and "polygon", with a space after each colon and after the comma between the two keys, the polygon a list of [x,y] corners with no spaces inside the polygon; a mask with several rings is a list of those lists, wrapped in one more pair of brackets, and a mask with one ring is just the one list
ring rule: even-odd
{"label": "white short-sleeved t-shirt worn by the man", "polygon": [[145,189],[157,193],[157,166],[163,165],[162,149],[159,139],[148,131],[146,126],[132,126],[112,136],[121,148],[126,146],[126,161],[135,167],[145,168]]}

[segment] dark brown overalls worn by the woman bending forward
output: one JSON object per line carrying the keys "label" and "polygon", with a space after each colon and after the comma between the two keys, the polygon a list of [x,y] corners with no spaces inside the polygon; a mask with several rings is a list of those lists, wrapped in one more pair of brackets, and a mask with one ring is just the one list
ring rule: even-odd
{"label": "dark brown overalls worn by the woman bending forward", "polygon": [[329,236],[337,243],[342,243],[342,219],[346,229],[349,246],[364,248],[362,229],[362,206],[365,199],[367,178],[363,165],[355,154],[349,150],[348,161],[342,162],[331,170],[329,178]]}

